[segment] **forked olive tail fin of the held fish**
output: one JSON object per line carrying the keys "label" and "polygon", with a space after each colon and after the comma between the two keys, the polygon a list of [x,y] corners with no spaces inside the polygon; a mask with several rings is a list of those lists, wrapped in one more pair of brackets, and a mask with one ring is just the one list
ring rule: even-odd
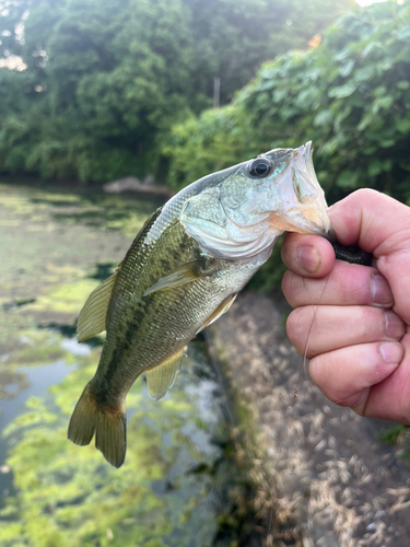
{"label": "forked olive tail fin of the held fish", "polygon": [[71,416],[68,438],[84,446],[90,444],[94,433],[95,446],[105,459],[114,467],[120,467],[127,451],[125,404],[120,407],[98,404],[89,383]]}

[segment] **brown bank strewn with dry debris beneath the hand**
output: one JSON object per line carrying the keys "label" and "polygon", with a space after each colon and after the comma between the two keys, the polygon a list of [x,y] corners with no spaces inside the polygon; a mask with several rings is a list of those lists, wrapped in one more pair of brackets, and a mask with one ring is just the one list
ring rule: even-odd
{"label": "brown bank strewn with dry debris beneath the hand", "polygon": [[280,296],[243,293],[210,337],[253,411],[260,504],[273,499],[268,545],[281,545],[281,519],[293,514],[295,545],[408,547],[410,474],[378,442],[385,423],[329,403],[305,373],[290,408],[302,358],[285,338],[285,312]]}

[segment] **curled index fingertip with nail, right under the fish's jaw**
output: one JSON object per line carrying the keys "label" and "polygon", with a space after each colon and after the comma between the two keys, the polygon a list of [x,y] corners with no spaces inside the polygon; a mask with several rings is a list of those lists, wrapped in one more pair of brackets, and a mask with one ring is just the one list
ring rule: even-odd
{"label": "curled index fingertip with nail, right under the fish's jaw", "polygon": [[281,256],[290,270],[309,278],[327,276],[335,264],[333,247],[318,235],[288,233],[282,244]]}

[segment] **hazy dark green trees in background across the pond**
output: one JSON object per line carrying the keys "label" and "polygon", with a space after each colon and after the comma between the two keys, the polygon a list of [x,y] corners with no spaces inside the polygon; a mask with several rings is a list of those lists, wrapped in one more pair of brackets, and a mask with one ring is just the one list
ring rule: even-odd
{"label": "hazy dark green trees in background across the pond", "polygon": [[232,98],[353,0],[0,0],[0,172],[161,170],[173,124]]}

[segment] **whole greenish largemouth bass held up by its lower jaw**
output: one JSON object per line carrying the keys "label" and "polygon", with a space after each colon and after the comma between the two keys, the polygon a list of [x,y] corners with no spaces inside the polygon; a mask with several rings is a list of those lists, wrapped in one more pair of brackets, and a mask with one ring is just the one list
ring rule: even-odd
{"label": "whole greenish largemouth bass held up by its lower jaw", "polygon": [[126,457],[126,397],[147,374],[150,396],[173,386],[188,342],[229,311],[284,231],[332,237],[313,147],[278,148],[187,186],[144,223],[78,319],[79,342],[103,331],[94,377],[68,438],[115,467]]}

